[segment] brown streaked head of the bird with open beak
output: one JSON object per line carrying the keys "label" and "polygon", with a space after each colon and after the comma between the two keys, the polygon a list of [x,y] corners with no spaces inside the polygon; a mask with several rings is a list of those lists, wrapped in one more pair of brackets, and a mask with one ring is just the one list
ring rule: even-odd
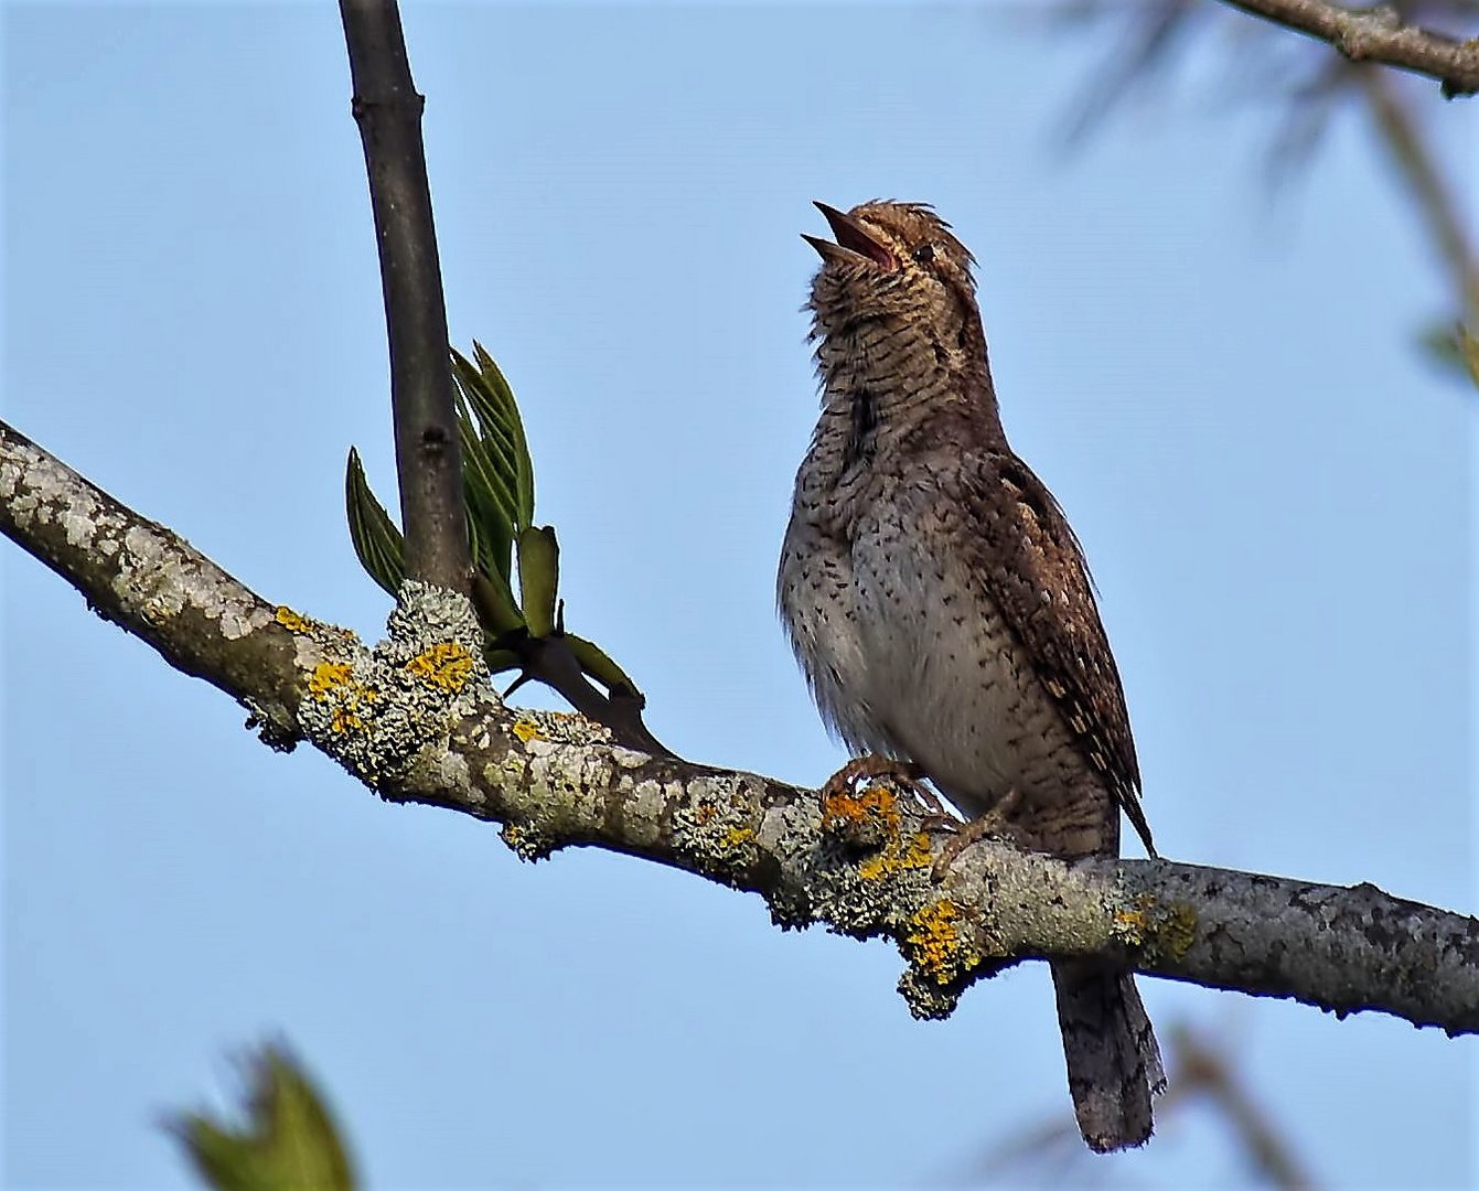
{"label": "brown streaked head of the bird with open beak", "polygon": [[967,328],[979,327],[970,272],[976,262],[950,223],[921,203],[816,209],[836,237],[802,237],[822,259],[810,300],[818,336],[861,318],[892,317],[929,323],[966,346]]}

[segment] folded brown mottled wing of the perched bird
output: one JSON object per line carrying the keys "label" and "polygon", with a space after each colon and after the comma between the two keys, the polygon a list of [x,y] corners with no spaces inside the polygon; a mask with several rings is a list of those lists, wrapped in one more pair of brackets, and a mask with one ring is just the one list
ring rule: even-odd
{"label": "folded brown mottled wing of the perched bird", "polygon": [[1010,451],[969,454],[961,487],[982,550],[972,571],[985,577],[988,595],[1032,657],[1080,750],[1105,775],[1154,857],[1120,670],[1068,518]]}

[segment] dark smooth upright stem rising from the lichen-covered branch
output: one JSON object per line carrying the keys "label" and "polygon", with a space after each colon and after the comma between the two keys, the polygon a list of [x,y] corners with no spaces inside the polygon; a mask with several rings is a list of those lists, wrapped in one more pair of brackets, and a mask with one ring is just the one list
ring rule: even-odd
{"label": "dark smooth upright stem rising from the lichen-covered branch", "polygon": [[422,146],[424,101],[411,81],[393,0],[340,0],[339,10],[380,244],[407,574],[466,592],[472,564],[447,303]]}

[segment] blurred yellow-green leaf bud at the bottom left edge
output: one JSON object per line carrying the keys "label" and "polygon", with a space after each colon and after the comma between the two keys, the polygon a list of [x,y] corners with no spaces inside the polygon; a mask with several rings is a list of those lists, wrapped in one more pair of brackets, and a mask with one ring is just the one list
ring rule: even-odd
{"label": "blurred yellow-green leaf bud at the bottom left edge", "polygon": [[169,1129],[217,1191],[352,1191],[349,1154],[322,1095],[280,1047],[248,1059],[246,1120],[185,1113]]}

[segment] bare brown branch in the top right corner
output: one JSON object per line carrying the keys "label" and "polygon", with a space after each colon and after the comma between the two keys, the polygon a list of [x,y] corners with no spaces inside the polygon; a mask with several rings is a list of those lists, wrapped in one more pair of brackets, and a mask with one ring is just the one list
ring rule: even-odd
{"label": "bare brown branch in the top right corner", "polygon": [[1347,9],[1328,0],[1223,0],[1334,46],[1352,62],[1381,62],[1444,84],[1444,95],[1479,92],[1479,37],[1466,41],[1404,25],[1396,9],[1378,4]]}

